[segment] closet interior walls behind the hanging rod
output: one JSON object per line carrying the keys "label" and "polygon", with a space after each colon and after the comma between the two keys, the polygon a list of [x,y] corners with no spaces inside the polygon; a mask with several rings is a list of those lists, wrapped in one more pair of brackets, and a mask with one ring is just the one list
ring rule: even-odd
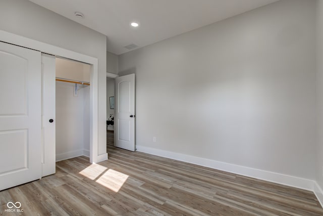
{"label": "closet interior walls behind the hanging rod", "polygon": [[[90,82],[90,65],[56,58],[56,77]],[[90,86],[56,81],[56,161],[90,152]]]}

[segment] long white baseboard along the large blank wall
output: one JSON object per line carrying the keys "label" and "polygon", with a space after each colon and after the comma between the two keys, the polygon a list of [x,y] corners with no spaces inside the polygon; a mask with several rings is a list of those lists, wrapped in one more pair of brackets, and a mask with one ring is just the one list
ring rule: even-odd
{"label": "long white baseboard along the large blank wall", "polygon": [[166,157],[170,159],[180,160],[188,163],[193,163],[196,165],[206,166],[209,168],[219,169],[223,171],[232,172],[234,174],[239,174],[242,176],[247,176],[255,179],[265,180],[268,182],[278,183],[281,185],[291,186],[295,188],[300,188],[308,191],[313,191],[314,181],[308,179],[302,179],[298,177],[288,176],[284,174],[279,174],[276,172],[265,171],[261,169],[250,168],[246,166],[240,166],[236,164],[195,157],[191,155],[185,155],[145,146],[136,145],[137,151],[148,153],[152,155],[157,155],[161,157]]}

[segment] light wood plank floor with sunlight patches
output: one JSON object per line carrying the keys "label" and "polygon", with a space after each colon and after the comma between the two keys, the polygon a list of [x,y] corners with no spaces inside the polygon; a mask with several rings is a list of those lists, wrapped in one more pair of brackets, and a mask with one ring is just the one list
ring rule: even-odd
{"label": "light wood plank floor with sunlight patches", "polygon": [[19,201],[23,215],[323,215],[312,192],[118,149],[112,135],[108,161],[57,162],[55,175],[1,191],[0,214]]}

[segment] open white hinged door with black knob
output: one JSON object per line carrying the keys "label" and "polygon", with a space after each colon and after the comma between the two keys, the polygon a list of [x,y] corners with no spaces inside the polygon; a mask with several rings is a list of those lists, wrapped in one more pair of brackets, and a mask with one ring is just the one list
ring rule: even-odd
{"label": "open white hinged door with black knob", "polygon": [[115,146],[135,151],[135,74],[115,80]]}

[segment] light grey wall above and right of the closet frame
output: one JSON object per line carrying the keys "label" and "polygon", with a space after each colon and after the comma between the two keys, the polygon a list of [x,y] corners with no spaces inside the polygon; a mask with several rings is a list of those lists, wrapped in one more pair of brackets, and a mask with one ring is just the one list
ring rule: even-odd
{"label": "light grey wall above and right of the closet frame", "polygon": [[105,154],[106,36],[25,0],[0,1],[0,29],[98,59],[98,154]]}

